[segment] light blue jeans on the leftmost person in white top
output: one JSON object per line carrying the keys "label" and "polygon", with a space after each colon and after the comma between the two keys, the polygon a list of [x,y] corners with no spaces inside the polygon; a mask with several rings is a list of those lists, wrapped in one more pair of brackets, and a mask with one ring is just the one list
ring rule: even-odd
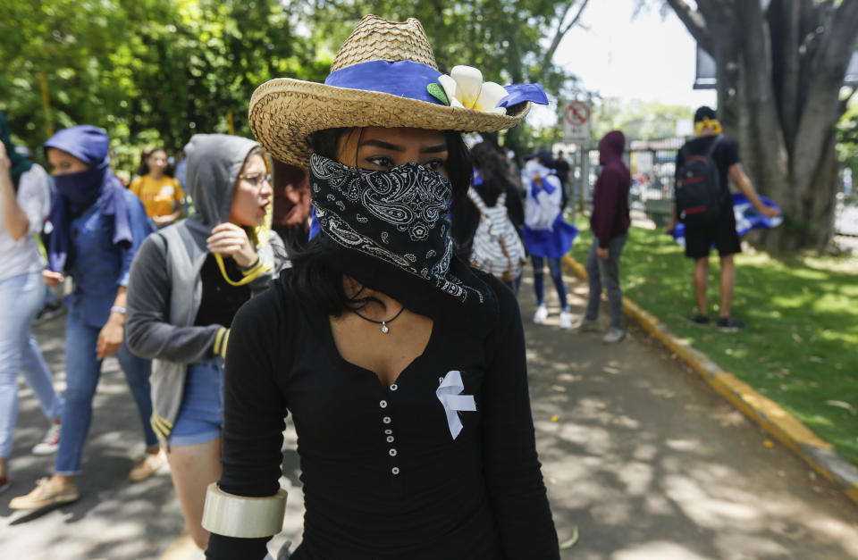
{"label": "light blue jeans on the leftmost person in white top", "polygon": [[13,431],[18,419],[18,372],[24,374],[49,420],[63,414],[63,400],[38,342],[30,330],[45,302],[45,283],[38,272],[0,280],[0,458],[12,454]]}

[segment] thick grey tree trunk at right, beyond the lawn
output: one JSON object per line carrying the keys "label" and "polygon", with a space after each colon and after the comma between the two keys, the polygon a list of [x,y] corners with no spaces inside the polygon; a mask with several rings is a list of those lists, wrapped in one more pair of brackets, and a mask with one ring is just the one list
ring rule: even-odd
{"label": "thick grey tree trunk at right, beyond the lawn", "polygon": [[838,93],[858,42],[858,0],[666,0],[718,68],[719,120],[744,171],[785,223],[752,239],[772,251],[834,235]]}

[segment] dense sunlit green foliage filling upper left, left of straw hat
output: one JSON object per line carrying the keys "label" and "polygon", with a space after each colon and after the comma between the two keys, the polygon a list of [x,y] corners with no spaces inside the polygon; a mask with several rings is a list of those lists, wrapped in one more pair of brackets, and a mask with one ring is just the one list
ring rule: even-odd
{"label": "dense sunlit green foliage filling upper left, left of straw hat", "polygon": [[[330,60],[296,38],[277,0],[32,0],[0,4],[0,109],[31,148],[48,129],[101,126],[119,166],[138,146],[181,147],[195,132],[249,136],[267,79],[322,79]],[[44,72],[51,112],[44,110]]]}

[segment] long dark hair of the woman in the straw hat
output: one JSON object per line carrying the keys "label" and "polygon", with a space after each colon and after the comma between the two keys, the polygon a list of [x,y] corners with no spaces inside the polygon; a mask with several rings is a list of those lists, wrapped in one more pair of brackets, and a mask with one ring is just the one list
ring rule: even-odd
{"label": "long dark hair of the woman in the straw hat", "polygon": [[[310,138],[313,152],[332,160],[337,159],[337,144],[343,134],[360,134],[359,129],[327,129]],[[467,196],[473,164],[465,141],[458,132],[442,132],[447,140],[447,174],[453,186],[452,206]],[[383,305],[375,297],[349,297],[343,287],[343,273],[330,264],[329,251],[321,235],[310,239],[306,247],[290,247],[292,271],[290,288],[302,299],[328,315],[339,316],[347,310],[360,310],[370,303]]]}

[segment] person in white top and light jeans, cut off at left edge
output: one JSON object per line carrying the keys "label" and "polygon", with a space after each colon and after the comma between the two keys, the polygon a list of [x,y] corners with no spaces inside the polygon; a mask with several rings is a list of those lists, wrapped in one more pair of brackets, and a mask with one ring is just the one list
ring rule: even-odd
{"label": "person in white top and light jeans, cut off at left edge", "polygon": [[56,450],[60,436],[63,399],[54,389],[38,342],[33,320],[45,302],[42,282],[45,260],[33,235],[42,229],[51,204],[47,172],[15,151],[6,117],[0,113],[0,492],[9,489],[6,461],[12,456],[13,431],[18,418],[18,372],[47,419],[52,422],[45,438],[33,447],[36,455]]}

